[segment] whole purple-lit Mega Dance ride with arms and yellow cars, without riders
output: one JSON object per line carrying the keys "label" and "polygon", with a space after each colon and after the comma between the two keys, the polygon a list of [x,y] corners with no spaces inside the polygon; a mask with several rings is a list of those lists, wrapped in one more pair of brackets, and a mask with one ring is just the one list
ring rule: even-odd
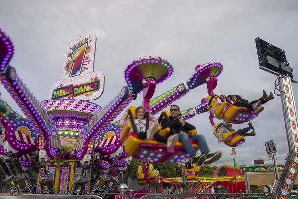
{"label": "whole purple-lit Mega Dance ride with arms and yellow cars, without riders", "polygon": [[[170,78],[173,73],[173,65],[159,56],[140,57],[129,62],[124,71],[127,85],[101,107],[90,102],[102,95],[105,81],[101,72],[94,72],[95,48],[94,34],[70,41],[65,48],[61,80],[51,87],[49,99],[39,102],[10,65],[14,45],[8,34],[0,29],[0,80],[25,115],[19,115],[6,102],[0,101],[0,165],[3,171],[7,167],[11,172],[10,175],[5,173],[5,184],[12,192],[72,195],[109,193],[118,183],[116,177],[109,178],[109,172],[116,168],[118,174],[122,173],[131,158],[143,159],[143,165],[138,168],[140,182],[160,181],[159,172],[152,164],[149,164],[147,171],[146,161],[161,163],[185,160],[189,154],[181,142],[167,149],[166,144],[154,139],[148,141],[138,138],[135,132],[130,132],[131,125],[136,129],[134,107],[129,107],[131,125],[119,126],[119,121],[112,123],[142,92],[144,110],[155,115],[190,90],[206,84],[208,96],[201,100],[199,106],[181,113],[187,120],[209,111],[216,137],[218,132],[214,118],[241,124],[258,116],[251,110],[234,105],[224,110],[226,103],[215,106],[213,91],[217,86],[217,77],[223,71],[223,65],[219,62],[196,66],[195,72],[186,82],[151,99],[156,85]],[[168,116],[169,113],[163,111],[159,119]],[[159,127],[156,133],[167,136],[169,131],[169,128]],[[194,130],[191,133],[197,132]],[[230,132],[230,135],[233,133]],[[245,142],[240,135],[232,137],[231,141],[226,141],[225,137],[223,140],[230,147]],[[191,142],[199,150],[198,145],[193,140]],[[10,168],[8,164],[13,164],[12,158],[19,158],[22,173],[13,173],[13,169],[17,169]],[[36,189],[33,189],[34,183],[26,171],[36,162],[40,162],[40,168]],[[91,185],[92,168],[99,168],[101,174]],[[107,195],[101,197],[106,198]]]}

